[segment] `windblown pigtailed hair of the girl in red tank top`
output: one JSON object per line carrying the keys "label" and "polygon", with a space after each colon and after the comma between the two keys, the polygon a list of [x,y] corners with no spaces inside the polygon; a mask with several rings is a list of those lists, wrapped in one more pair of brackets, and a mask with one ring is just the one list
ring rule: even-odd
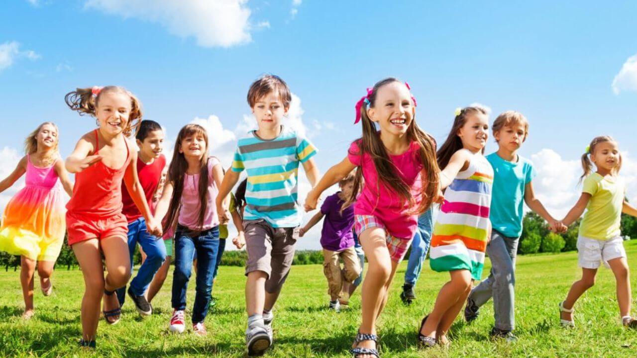
{"label": "windblown pigtailed hair of the girl in red tank top", "polygon": [[128,117],[128,122],[124,128],[124,136],[130,137],[137,133],[137,129],[140,126],[141,117],[143,115],[141,111],[141,102],[131,92],[119,86],[106,86],[99,89],[97,95],[93,94],[93,88],[75,89],[64,96],[66,105],[71,110],[77,111],[80,115],[92,115],[96,117],[97,104],[100,97],[106,92],[120,92],[131,98],[131,113]]}

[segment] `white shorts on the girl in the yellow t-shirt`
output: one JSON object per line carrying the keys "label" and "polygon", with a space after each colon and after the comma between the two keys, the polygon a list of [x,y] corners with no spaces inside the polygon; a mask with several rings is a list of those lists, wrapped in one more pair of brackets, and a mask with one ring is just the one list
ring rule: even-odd
{"label": "white shorts on the girl in the yellow t-shirt", "polygon": [[579,236],[577,238],[577,259],[581,268],[596,269],[601,262],[608,267],[608,261],[626,257],[624,240],[615,236],[608,240],[596,240]]}

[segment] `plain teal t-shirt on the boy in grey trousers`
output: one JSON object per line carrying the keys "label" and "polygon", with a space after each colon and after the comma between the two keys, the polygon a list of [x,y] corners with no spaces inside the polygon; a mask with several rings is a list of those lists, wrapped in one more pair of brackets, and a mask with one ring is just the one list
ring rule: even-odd
{"label": "plain teal t-shirt on the boy in grey trousers", "polygon": [[518,155],[517,162],[502,159],[497,153],[487,155],[493,167],[493,189],[489,218],[494,230],[509,238],[522,234],[524,188],[535,177],[531,161]]}

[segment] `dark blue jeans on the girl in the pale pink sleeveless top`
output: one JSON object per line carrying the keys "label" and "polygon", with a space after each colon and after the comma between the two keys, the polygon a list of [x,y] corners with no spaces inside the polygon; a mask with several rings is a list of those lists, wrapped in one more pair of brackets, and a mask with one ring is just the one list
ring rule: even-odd
{"label": "dark blue jeans on the girl in the pale pink sleeveless top", "polygon": [[[189,236],[190,235],[190,236]],[[215,271],[219,250],[219,228],[192,234],[183,226],[175,233],[175,272],[173,273],[172,304],[175,310],[185,310],[186,291],[192,273],[192,259],[197,255],[197,280],[195,303],[192,308],[192,324],[203,322],[208,314],[212,274]]]}

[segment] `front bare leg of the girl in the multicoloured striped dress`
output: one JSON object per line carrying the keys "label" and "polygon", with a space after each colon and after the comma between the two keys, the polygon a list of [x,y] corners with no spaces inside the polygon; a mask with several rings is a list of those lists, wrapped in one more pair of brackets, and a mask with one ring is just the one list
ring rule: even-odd
{"label": "front bare leg of the girl in the multicoloured striped dress", "polygon": [[449,274],[451,280],[445,283],[442,289],[440,289],[440,292],[438,292],[434,309],[429,313],[427,322],[425,322],[422,329],[420,329],[420,333],[425,336],[434,338],[438,335],[438,326],[440,326],[443,318],[445,318],[445,313],[456,304],[462,306],[464,301],[460,300],[461,296],[466,294],[468,289],[471,289],[471,273],[469,273],[468,270],[458,269],[450,271]]}

